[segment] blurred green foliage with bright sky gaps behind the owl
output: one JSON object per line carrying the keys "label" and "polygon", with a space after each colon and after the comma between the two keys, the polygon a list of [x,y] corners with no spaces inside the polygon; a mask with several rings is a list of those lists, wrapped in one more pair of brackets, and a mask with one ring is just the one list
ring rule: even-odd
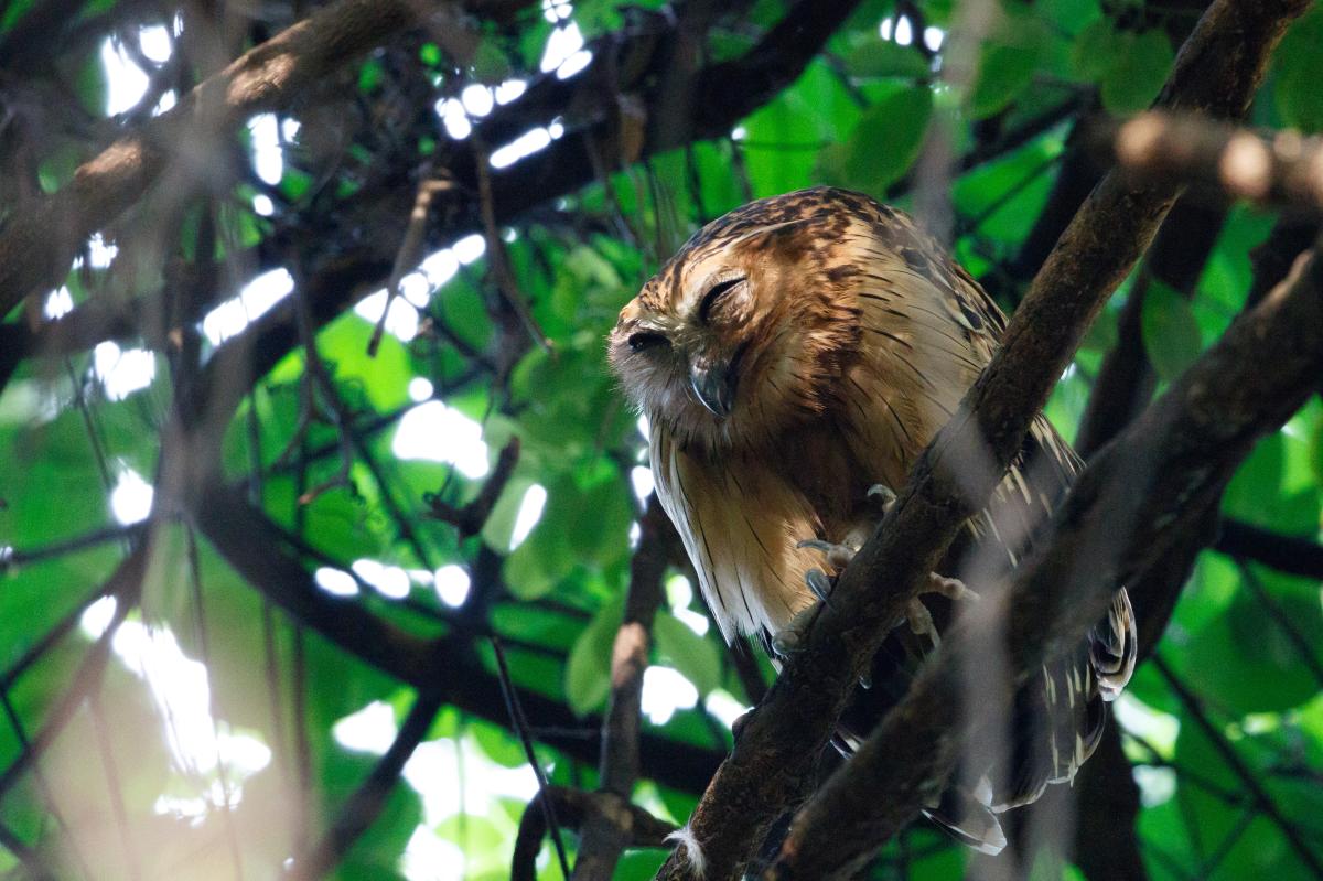
{"label": "blurred green foliage with bright sky gaps behind the owl", "polygon": [[[0,224],[318,5],[0,1]],[[232,567],[245,550],[296,564],[303,589],[437,638],[454,660],[435,683],[443,708],[331,874],[507,877],[537,780],[493,638],[549,780],[597,782],[651,492],[636,414],[603,362],[619,307],[703,222],[827,183],[921,213],[1013,310],[1044,235],[1099,173],[1080,120],[1146,107],[1203,7],[864,0],[802,46],[803,73],[759,106],[728,120],[720,102],[700,107],[718,122],[667,143],[650,128],[667,108],[646,89],[610,93],[607,61],[646,58],[695,8],[710,22],[705,63],[738,61],[778,22],[812,15],[807,4],[504,5],[442,34],[407,32],[287,112],[214,135],[204,160],[177,161],[81,247],[58,288],[0,325],[4,877],[275,877],[382,761],[415,689],[374,660],[372,634],[328,640]],[[1319,131],[1320,82],[1315,9],[1277,53],[1252,123]],[[611,142],[591,134],[602,94],[623,120]],[[445,187],[472,194],[475,155],[490,156],[500,251],[482,212],[447,208]],[[441,196],[390,296],[429,180]],[[1245,304],[1250,254],[1278,218],[1208,194],[1192,209],[1216,220],[1203,253],[1187,243],[1188,280],[1138,271],[1061,378],[1048,413],[1068,438],[1105,355],[1136,332],[1122,320],[1136,284],[1156,388]],[[81,331],[52,332],[69,321]],[[221,360],[233,351],[251,376],[198,381],[233,366]],[[226,384],[238,386],[229,410],[209,397]],[[247,548],[217,546],[161,491],[180,413],[212,418],[221,483],[265,516],[246,524]],[[512,439],[517,464],[480,529],[431,516],[433,501],[478,497]],[[1315,399],[1259,444],[1224,501],[1229,520],[1301,540],[1295,562],[1203,553],[1160,667],[1144,664],[1117,706],[1154,878],[1315,877],[1282,823],[1323,859],[1320,482]],[[127,575],[140,589],[124,589],[112,573],[144,548]],[[754,700],[750,672],[770,679],[721,644],[693,585],[673,556],[635,788],[676,823]],[[573,857],[573,835],[566,844]],[[630,852],[618,877],[651,877],[663,856]],[[968,862],[917,824],[869,877],[954,878]],[[538,872],[560,876],[549,844]],[[1035,877],[1058,874],[1082,870],[1043,860]]]}

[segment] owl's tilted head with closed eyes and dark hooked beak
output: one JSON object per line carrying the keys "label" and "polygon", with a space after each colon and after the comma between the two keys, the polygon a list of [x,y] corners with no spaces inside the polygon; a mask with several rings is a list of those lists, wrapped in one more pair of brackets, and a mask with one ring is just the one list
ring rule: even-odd
{"label": "owl's tilted head with closed eyes and dark hooked beak", "polygon": [[856,347],[860,249],[885,210],[815,188],[704,226],[611,331],[626,394],[683,447],[708,452],[775,444],[819,417]]}

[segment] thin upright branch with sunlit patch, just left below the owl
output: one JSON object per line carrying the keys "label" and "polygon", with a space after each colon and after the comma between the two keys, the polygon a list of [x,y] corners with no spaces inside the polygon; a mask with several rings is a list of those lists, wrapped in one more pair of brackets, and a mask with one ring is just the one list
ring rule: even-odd
{"label": "thin upright branch with sunlit patch, just left below the owl", "polygon": [[[602,721],[602,759],[598,765],[603,795],[628,804],[639,775],[639,728],[643,705],[643,672],[648,667],[652,620],[662,603],[662,578],[667,566],[669,524],[654,493],[639,521],[642,534],[630,564],[630,590],[624,619],[611,648],[611,700]],[[576,881],[610,881],[620,853],[634,836],[634,815],[617,807],[587,816],[574,864]]]}

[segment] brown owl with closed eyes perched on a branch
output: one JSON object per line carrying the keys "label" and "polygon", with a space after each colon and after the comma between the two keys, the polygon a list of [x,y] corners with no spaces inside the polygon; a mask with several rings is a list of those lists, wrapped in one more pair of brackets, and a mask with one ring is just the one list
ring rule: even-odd
{"label": "brown owl with closed eyes perched on a branch", "polygon": [[[624,306],[609,360],[647,418],[658,496],[726,640],[753,636],[774,659],[795,644],[876,528],[878,497],[904,485],[1004,327],[992,299],[902,212],[822,187],[708,224]],[[885,713],[941,628],[976,602],[970,590],[1019,562],[1078,468],[1036,418],[949,571],[934,574],[957,590],[912,605],[909,630],[875,659],[886,681],[856,689],[839,749],[848,753]],[[966,575],[970,590],[951,578]],[[1121,590],[1086,644],[1019,691],[1004,755],[925,814],[1000,851],[996,814],[1073,778],[1102,733],[1105,702],[1134,669],[1135,646]],[[886,687],[897,677],[900,692]]]}

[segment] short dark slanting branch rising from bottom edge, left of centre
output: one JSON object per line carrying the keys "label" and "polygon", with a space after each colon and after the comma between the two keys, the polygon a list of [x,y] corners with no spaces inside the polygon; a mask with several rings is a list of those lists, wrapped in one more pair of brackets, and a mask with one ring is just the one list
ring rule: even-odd
{"label": "short dark slanting branch rising from bottom edge, left of centre", "polygon": [[443,692],[435,688],[418,693],[409,716],[390,743],[390,749],[344,803],[321,840],[306,855],[295,859],[286,872],[287,878],[311,881],[325,877],[344,859],[353,843],[377,820],[392,787],[400,780],[405,762],[409,761],[409,757],[427,734],[427,729],[431,728],[431,721],[443,704],[442,697]]}

